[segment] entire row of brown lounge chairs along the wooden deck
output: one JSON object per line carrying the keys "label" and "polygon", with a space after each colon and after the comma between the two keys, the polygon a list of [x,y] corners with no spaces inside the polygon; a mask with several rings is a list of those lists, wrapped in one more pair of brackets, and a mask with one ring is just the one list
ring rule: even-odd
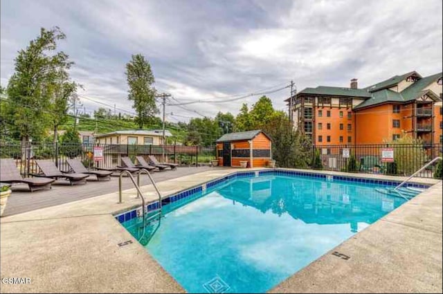
{"label": "entire row of brown lounge chairs along the wooden deck", "polygon": [[110,179],[111,174],[126,170],[136,173],[140,169],[147,169],[150,172],[163,170],[166,168],[176,169],[174,163],[159,163],[154,156],[150,156],[150,163],[147,163],[143,156],[136,156],[138,165],[134,165],[129,157],[122,157],[122,165],[116,168],[98,168],[98,170],[89,171],[78,159],[68,159],[66,162],[73,172],[62,172],[57,168],[52,160],[35,160],[41,174],[32,174],[33,178],[23,178],[12,158],[2,158],[0,163],[0,182],[1,183],[25,183],[28,184],[31,192],[51,188],[51,184],[62,178],[73,183],[86,183],[89,176],[96,176],[97,180]]}

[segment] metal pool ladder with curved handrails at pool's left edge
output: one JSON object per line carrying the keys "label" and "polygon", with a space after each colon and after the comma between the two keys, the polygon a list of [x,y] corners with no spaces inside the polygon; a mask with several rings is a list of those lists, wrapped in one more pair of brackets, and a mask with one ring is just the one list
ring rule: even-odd
{"label": "metal pool ladder with curved handrails at pool's left edge", "polygon": [[[118,178],[118,203],[123,203],[122,178],[123,178],[123,175],[125,175],[125,174],[127,174],[127,176],[129,176],[129,179],[134,184],[134,187],[136,187],[136,190],[137,190],[136,198],[141,198],[142,214],[143,214],[143,228],[145,228],[147,221],[150,221],[151,219],[154,219],[155,217],[159,217],[159,219],[161,219],[161,193],[160,193],[159,188],[157,187],[154,179],[152,178],[150,172],[147,169],[140,169],[137,172],[137,183],[134,180],[134,176],[132,176],[132,174],[129,171],[123,170],[120,172],[120,176]],[[147,176],[150,178],[152,185],[154,186],[154,189],[157,192],[157,195],[159,195],[159,208],[154,210],[154,212],[156,212],[156,213],[150,217],[147,217],[145,196],[143,195],[143,192],[141,192],[141,189],[140,189],[141,174],[147,174]]]}

